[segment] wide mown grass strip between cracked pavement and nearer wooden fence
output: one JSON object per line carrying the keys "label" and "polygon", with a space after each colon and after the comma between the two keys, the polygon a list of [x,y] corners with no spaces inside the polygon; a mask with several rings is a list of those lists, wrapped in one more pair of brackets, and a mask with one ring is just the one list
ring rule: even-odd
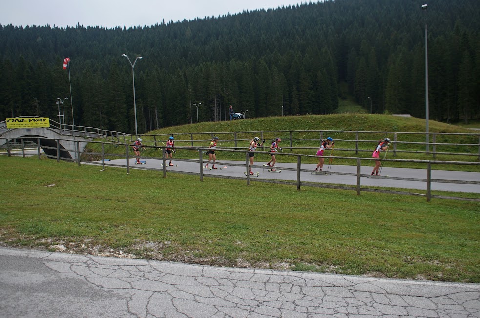
{"label": "wide mown grass strip between cracked pavement and nearer wooden fence", "polygon": [[[0,156],[0,244],[480,282],[480,204]],[[54,185],[54,186],[49,186]]]}

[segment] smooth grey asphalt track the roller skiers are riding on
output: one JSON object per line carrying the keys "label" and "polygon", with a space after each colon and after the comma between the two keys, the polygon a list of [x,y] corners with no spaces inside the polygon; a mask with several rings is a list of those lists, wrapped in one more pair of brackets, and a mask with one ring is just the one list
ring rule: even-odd
{"label": "smooth grey asphalt track the roller skiers are riding on", "polygon": [[[135,159],[129,159],[131,168],[142,168],[142,169],[162,169],[161,164],[162,160],[152,160],[152,159],[142,159],[146,160],[144,165],[136,165]],[[204,165],[205,165],[204,160]],[[97,163],[101,163],[97,162]],[[167,161],[168,163],[168,161]],[[173,164],[178,165],[178,167],[167,167],[168,171],[184,171],[184,172],[200,172],[200,164],[198,162],[186,162],[186,161],[175,161]],[[232,166],[230,164],[239,164],[242,166]],[[255,163],[256,164],[256,163]],[[114,165],[125,167],[126,159],[117,159],[111,161],[105,161],[105,166]],[[211,167],[211,163],[209,164]],[[208,170],[203,169],[205,175],[223,175],[231,177],[245,177],[246,166],[245,162],[241,161],[222,161],[219,160],[217,167],[221,167],[222,170]],[[262,179],[276,179],[276,180],[291,180],[296,181],[297,173],[292,170],[284,170],[284,168],[296,169],[296,163],[283,163],[277,162],[275,165],[276,170],[282,170],[281,173],[268,172],[267,167],[262,166],[262,162],[259,162],[259,165],[252,168],[253,172],[259,172],[258,177],[251,177],[252,180],[255,178]],[[324,166],[324,169],[327,169],[328,165]],[[303,164],[302,169],[315,169],[314,164]],[[354,176],[349,175],[339,175],[339,174],[327,174],[327,175],[313,175],[311,172],[301,172],[301,181],[302,182],[323,182],[323,183],[334,183],[334,184],[344,184],[356,186],[356,166],[344,166],[344,165],[332,165],[331,171],[338,173],[351,173],[355,174]],[[417,190],[426,190],[426,182],[422,181],[405,181],[405,180],[395,180],[395,179],[383,179],[382,177],[370,177],[372,172],[373,164],[370,166],[361,167],[361,174],[368,175],[362,176],[361,186],[370,187],[370,186],[380,186],[380,187],[393,187],[393,188],[403,188],[403,189],[417,189]],[[401,178],[427,178],[427,171],[425,169],[408,169],[408,168],[382,168],[382,176],[389,177],[401,177]],[[246,178],[246,177],[245,177]],[[431,179],[444,179],[444,180],[464,180],[464,181],[480,181],[480,173],[478,172],[468,172],[468,171],[445,171],[445,170],[432,170]],[[454,183],[437,183],[432,182],[431,190],[441,190],[441,191],[452,191],[452,192],[471,192],[471,193],[480,193],[480,184],[454,184]]]}

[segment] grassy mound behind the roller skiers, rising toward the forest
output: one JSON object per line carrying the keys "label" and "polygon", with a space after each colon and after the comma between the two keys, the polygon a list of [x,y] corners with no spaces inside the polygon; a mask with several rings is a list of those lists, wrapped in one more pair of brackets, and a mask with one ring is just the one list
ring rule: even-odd
{"label": "grassy mound behind the roller skiers, rising toward the forest", "polygon": [[[274,133],[272,131],[282,130],[284,132]],[[343,132],[324,132],[322,137],[325,139],[327,136],[331,136],[336,140],[334,156],[344,157],[365,157],[371,158],[371,153],[375,149],[379,139],[389,137],[394,140],[393,134],[385,134],[383,132],[418,132],[419,134],[400,134],[398,133],[397,141],[406,142],[398,143],[398,151],[412,151],[412,152],[397,152],[396,156],[393,156],[393,147],[389,151],[388,159],[421,159],[421,160],[434,160],[432,155],[418,153],[417,151],[424,151],[425,145],[415,144],[412,142],[425,142],[425,135],[422,134],[425,131],[425,120],[417,118],[403,118],[390,115],[377,115],[377,114],[334,114],[334,115],[308,115],[308,116],[285,116],[285,117],[268,117],[258,119],[243,119],[233,121],[221,121],[221,122],[202,122],[193,125],[183,125],[177,127],[167,127],[160,130],[152,131],[142,135],[143,143],[149,146],[154,145],[154,137],[158,146],[162,146],[162,142],[166,142],[170,134],[175,137],[176,146],[191,146],[190,133],[194,133],[193,139],[195,147],[208,147],[212,134],[220,138],[218,147],[233,148],[235,142],[231,141],[235,139],[233,132],[237,133],[236,139],[237,147],[243,150],[247,150],[250,140],[254,136],[263,137],[267,140],[266,150],[270,146],[270,142],[275,137],[280,137],[283,141],[280,146],[284,152],[295,154],[315,155],[320,145],[320,133],[319,132],[294,132],[292,133],[292,147],[290,149],[289,131],[292,130],[348,130],[348,131],[379,131],[380,133],[359,133],[360,140],[372,140],[372,142],[360,142],[359,149],[364,150],[355,154],[355,151],[346,149],[355,149],[355,142],[348,140],[355,140],[355,132],[343,133]],[[454,125],[448,125],[436,121],[430,121],[430,132],[438,133],[477,133],[476,131],[468,130]],[[263,133],[261,133],[263,132]],[[307,140],[317,139],[317,140]],[[230,141],[229,141],[230,140]],[[433,138],[430,140],[433,141]],[[437,146],[438,152],[451,152],[451,153],[471,153],[477,156],[460,156],[460,155],[437,155],[435,160],[440,161],[474,161],[478,160],[478,146],[460,146],[456,144],[478,144],[479,137],[475,135],[470,136],[444,136],[438,135],[436,137],[438,143],[450,143],[453,145]],[[296,148],[295,148],[296,147]],[[307,149],[302,149],[307,148]],[[88,149],[100,153],[101,145],[90,143]],[[343,149],[343,150],[342,150]],[[125,147],[118,145],[106,146],[105,152],[109,154],[118,154],[125,157]],[[327,155],[330,152],[326,153]],[[133,152],[130,152],[133,155]],[[161,157],[161,152],[148,148],[142,152],[144,157]],[[192,150],[179,150],[175,154],[177,158],[198,158],[198,152]],[[277,156],[279,164],[281,162],[296,162],[296,156]],[[109,159],[118,159],[118,157],[108,157]],[[98,157],[96,158],[98,159]],[[219,152],[217,154],[218,160],[245,160],[245,155],[242,153],[228,153]],[[262,156],[263,159],[263,156]],[[267,157],[268,161],[269,158]],[[316,163],[316,158],[306,158],[302,163]],[[370,163],[370,162],[368,162]],[[365,162],[365,164],[368,164]],[[334,164],[347,164],[356,165],[355,160],[348,159],[335,159]],[[364,163],[362,163],[364,164]],[[425,168],[426,164],[422,163],[388,163],[390,166],[395,167],[411,167],[411,168]],[[480,166],[446,166],[435,165],[433,169],[449,169],[449,170],[467,170],[467,171],[480,171]]]}

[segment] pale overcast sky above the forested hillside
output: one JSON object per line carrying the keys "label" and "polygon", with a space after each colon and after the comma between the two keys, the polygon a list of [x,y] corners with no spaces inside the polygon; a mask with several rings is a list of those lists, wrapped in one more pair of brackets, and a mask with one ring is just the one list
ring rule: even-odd
{"label": "pale overcast sky above the forested hillside", "polygon": [[[306,0],[0,0],[0,24],[17,26],[150,26],[277,8]],[[313,0],[312,2],[316,2]]]}

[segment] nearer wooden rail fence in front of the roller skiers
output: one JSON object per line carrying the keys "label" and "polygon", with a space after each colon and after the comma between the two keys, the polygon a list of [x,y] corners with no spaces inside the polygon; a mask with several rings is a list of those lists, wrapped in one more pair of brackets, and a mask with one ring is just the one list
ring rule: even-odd
{"label": "nearer wooden rail fence in front of the roller skiers", "polygon": [[[40,145],[40,138],[38,138],[38,144]],[[92,143],[100,143],[102,145],[102,152],[101,153],[96,153],[96,152],[86,152],[80,151],[79,147],[79,142],[76,141],[76,149],[60,149],[60,141],[66,140],[66,141],[71,141],[69,139],[57,139],[56,147],[46,147],[42,146],[42,148],[46,149],[51,149],[51,150],[56,150],[57,156],[49,156],[50,158],[57,159],[57,162],[60,161],[61,159],[63,160],[68,160],[68,161],[77,161],[78,165],[81,165],[81,155],[95,155],[99,156],[102,158],[102,163],[98,163],[102,165],[102,168],[105,169],[105,157],[110,156],[110,157],[124,157],[124,155],[119,155],[119,154],[108,154],[105,153],[105,145],[110,144],[110,145],[119,145],[116,142],[100,142],[100,141],[91,141]],[[9,144],[9,142],[7,142]],[[22,144],[23,140],[22,140]],[[125,158],[127,159],[127,165],[126,165],[126,170],[127,174],[129,173],[130,165],[129,165],[129,152],[130,152],[130,147],[132,146],[131,143],[124,143],[122,146],[125,146]],[[161,159],[163,162],[163,168],[161,169],[163,171],[163,176],[166,177],[166,156],[165,156],[165,146],[149,146],[145,145],[145,147],[148,148],[153,148],[153,149],[160,149],[162,153],[162,157],[143,157],[146,159]],[[203,181],[203,177],[205,175],[203,171],[203,154],[205,151],[208,150],[208,148],[204,147],[175,147],[176,149],[183,149],[183,150],[189,150],[189,151],[194,151],[198,153],[198,159],[179,159],[175,158],[176,161],[188,161],[188,162],[198,162],[199,163],[199,172],[198,173],[191,173],[191,172],[184,172],[187,174],[195,174],[200,176],[200,181]],[[10,147],[7,148],[7,155],[11,156],[11,151]],[[230,165],[230,166],[245,166],[246,167],[246,172],[247,172],[247,185],[250,185],[250,175],[248,174],[249,170],[249,157],[248,157],[248,150],[237,150],[237,149],[228,149],[228,148],[216,148],[217,151],[227,151],[227,152],[237,152],[237,153],[244,153],[246,156],[246,161],[245,164],[232,164],[232,163],[225,163],[225,162],[220,162],[217,161],[217,164],[225,164],[225,165]],[[71,159],[71,158],[64,158],[61,157],[62,151],[72,151],[72,152],[77,152],[76,158]],[[270,152],[262,152],[262,151],[257,151],[257,154],[269,154]],[[25,157],[25,150],[22,150],[22,155]],[[376,159],[376,158],[361,158],[361,157],[345,157],[345,156],[335,156],[335,159],[347,159],[347,160],[353,160],[356,163],[357,166],[357,172],[356,174],[354,173],[342,173],[342,172],[331,172],[331,174],[338,174],[338,175],[351,175],[351,176],[356,176],[357,177],[357,184],[356,187],[352,186],[338,186],[338,185],[330,185],[330,184],[324,184],[324,183],[314,183],[314,182],[302,182],[301,180],[301,173],[300,172],[311,172],[311,169],[301,169],[301,162],[302,158],[306,157],[314,157],[318,158],[319,156],[313,156],[313,155],[304,155],[304,154],[295,154],[295,153],[277,153],[278,156],[295,156],[297,157],[297,167],[296,168],[282,168],[282,170],[291,170],[291,171],[296,171],[297,172],[297,180],[296,182],[292,181],[281,181],[281,180],[270,180],[270,179],[255,179],[256,181],[259,182],[267,182],[267,183],[277,183],[277,184],[287,184],[287,185],[296,185],[297,190],[300,190],[301,186],[313,186],[313,187],[322,187],[322,188],[333,188],[333,189],[343,189],[343,190],[354,190],[356,191],[357,195],[360,195],[361,191],[366,191],[366,192],[381,192],[381,193],[390,193],[390,194],[401,194],[401,195],[415,195],[415,196],[425,196],[427,201],[430,201],[431,198],[439,198],[439,199],[455,199],[455,200],[468,200],[468,201],[475,201],[475,202],[480,202],[480,199],[476,198],[462,198],[462,197],[454,197],[454,196],[437,196],[437,195],[432,195],[431,194],[431,183],[437,182],[437,183],[452,183],[452,184],[475,184],[478,185],[480,184],[480,181],[461,181],[461,180],[445,180],[445,179],[431,179],[431,165],[432,164],[449,164],[449,165],[480,165],[480,162],[470,162],[470,161],[436,161],[436,160],[416,160],[416,159]],[[38,146],[38,157],[40,159],[41,156],[41,151],[40,151],[40,146]],[[329,158],[329,156],[322,156],[324,158]],[[373,188],[364,188],[361,187],[361,177],[370,177],[369,175],[362,175],[360,173],[360,167],[361,167],[361,162],[362,161],[383,161],[383,162],[402,162],[402,163],[424,163],[427,165],[427,171],[426,171],[426,178],[402,178],[402,177],[387,177],[387,176],[378,176],[376,178],[379,179],[395,179],[395,180],[410,180],[410,181],[420,181],[420,182],[426,182],[427,183],[427,191],[426,194],[419,194],[419,193],[413,193],[413,192],[408,192],[408,191],[394,191],[394,190],[385,190],[385,189],[373,189]],[[92,164],[93,162],[90,162]],[[96,163],[94,163],[96,164]],[[258,167],[257,165],[254,165],[253,167]],[[152,169],[152,168],[150,168]],[[152,170],[159,170],[159,169],[152,169]],[[182,173],[182,172],[178,172]],[[219,178],[229,178],[229,179],[245,179],[241,177],[227,177],[227,176],[219,176],[219,175],[210,175],[214,177],[219,177]]]}

